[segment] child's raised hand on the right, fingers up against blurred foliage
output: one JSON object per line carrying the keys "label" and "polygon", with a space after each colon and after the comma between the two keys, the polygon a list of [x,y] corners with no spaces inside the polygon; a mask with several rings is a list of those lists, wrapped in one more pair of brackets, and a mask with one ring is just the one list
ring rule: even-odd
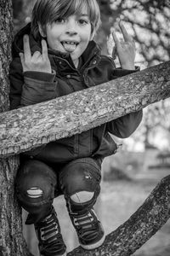
{"label": "child's raised hand on the right, fingers up against blurred foliage", "polygon": [[[124,41],[119,41],[116,37],[116,32],[112,31],[113,40],[116,44],[116,53],[120,61],[121,67],[123,69],[135,69],[134,67],[134,58],[135,58],[135,43],[133,38],[127,33],[127,30],[122,24],[122,21],[119,23],[119,26],[122,31]],[[113,52],[114,55],[114,52]]]}

